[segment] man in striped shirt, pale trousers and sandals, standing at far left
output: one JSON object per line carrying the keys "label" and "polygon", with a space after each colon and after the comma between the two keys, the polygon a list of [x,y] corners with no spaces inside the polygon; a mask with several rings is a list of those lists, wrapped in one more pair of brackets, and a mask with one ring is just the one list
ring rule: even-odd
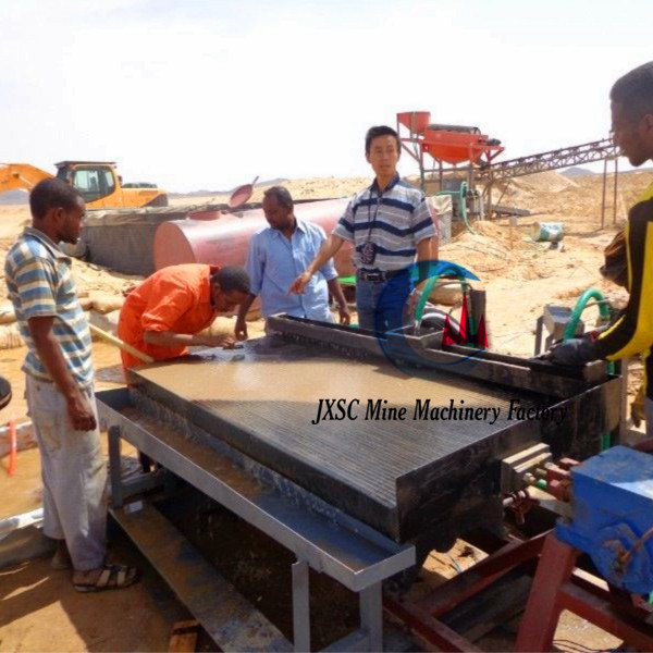
{"label": "man in striped shirt, pale trousers and sandals, standing at far left", "polygon": [[84,200],[72,186],[50,178],[34,187],[29,208],[32,226],[10,248],[4,274],[27,343],[23,371],[41,455],[44,532],[58,541],[52,566],[72,566],[77,591],[121,589],[138,574],[133,567],[104,564],[107,469],[90,332],[71,259],[57,245],[77,242]]}

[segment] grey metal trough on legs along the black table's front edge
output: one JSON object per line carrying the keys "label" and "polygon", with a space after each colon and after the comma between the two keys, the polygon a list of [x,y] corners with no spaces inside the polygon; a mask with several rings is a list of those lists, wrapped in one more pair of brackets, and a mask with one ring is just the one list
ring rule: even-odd
{"label": "grey metal trough on legs along the black table's front edge", "polygon": [[415,564],[414,546],[396,544],[296,485],[295,496],[288,496],[284,489],[293,483],[271,470],[266,469],[270,483],[261,483],[252,473],[258,464],[227,445],[221,447],[229,448],[229,456],[207,447],[201,438],[189,439],[164,423],[157,433],[150,432],[121,412],[132,406],[126,389],[100,392],[96,397],[101,424],[109,431],[114,508],[160,482],[153,475],[122,480],[120,441],[124,439],[296,555],[292,568],[296,651],[310,650],[309,567],[359,594],[359,629],[329,650],[382,650],[382,581]]}

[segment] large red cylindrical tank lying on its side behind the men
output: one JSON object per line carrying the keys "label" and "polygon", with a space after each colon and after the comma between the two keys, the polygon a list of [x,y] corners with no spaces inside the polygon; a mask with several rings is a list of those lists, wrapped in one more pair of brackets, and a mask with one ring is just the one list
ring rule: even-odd
{"label": "large red cylindrical tank lying on its side behind the men", "polygon": [[[345,212],[348,199],[329,199],[295,205],[295,215],[319,224],[329,235]],[[244,266],[251,236],[268,226],[262,209],[234,214],[220,213],[217,220],[172,220],[157,229],[155,268],[178,263]],[[345,243],[335,256],[341,276],[354,274],[353,247]]]}

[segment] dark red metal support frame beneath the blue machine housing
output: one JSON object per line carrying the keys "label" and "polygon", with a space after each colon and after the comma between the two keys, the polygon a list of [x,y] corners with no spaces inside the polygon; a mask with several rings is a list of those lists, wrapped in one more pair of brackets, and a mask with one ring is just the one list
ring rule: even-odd
{"label": "dark red metal support frame beneath the blue machine housing", "polygon": [[448,627],[443,617],[484,589],[500,583],[502,578],[509,578],[514,569],[532,574],[532,566],[539,558],[515,651],[551,651],[563,609],[595,624],[640,651],[653,651],[653,627],[648,623],[651,606],[638,596],[614,588],[603,589],[587,574],[577,571],[576,560],[581,553],[560,542],[551,531],[523,542],[512,540],[418,601],[386,593],[383,607],[441,651],[479,651],[471,641]]}

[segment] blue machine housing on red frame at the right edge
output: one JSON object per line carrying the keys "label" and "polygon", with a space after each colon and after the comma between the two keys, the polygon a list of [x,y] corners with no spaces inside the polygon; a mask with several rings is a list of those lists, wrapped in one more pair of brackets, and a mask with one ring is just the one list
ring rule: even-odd
{"label": "blue machine housing on red frame at the right edge", "polygon": [[[574,516],[557,538],[588,553],[613,586],[653,590],[653,456],[615,446],[571,469]],[[649,529],[652,533],[640,542]],[[639,544],[638,544],[639,542]],[[631,552],[624,564],[624,556]]]}

